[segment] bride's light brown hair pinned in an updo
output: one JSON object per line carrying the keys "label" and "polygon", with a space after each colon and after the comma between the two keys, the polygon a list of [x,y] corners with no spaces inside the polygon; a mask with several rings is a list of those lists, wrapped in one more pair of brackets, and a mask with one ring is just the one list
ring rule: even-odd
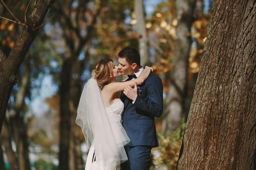
{"label": "bride's light brown hair pinned in an updo", "polygon": [[99,86],[103,87],[113,81],[113,60],[102,59],[96,63],[92,76],[97,80]]}

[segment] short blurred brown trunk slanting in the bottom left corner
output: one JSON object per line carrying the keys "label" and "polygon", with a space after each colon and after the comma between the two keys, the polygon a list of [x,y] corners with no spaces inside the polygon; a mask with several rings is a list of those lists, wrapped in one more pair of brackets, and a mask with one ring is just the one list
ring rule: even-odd
{"label": "short blurred brown trunk slanting in the bottom left corner", "polygon": [[10,129],[7,125],[7,122],[3,122],[3,128],[0,135],[0,143],[3,144],[4,150],[10,165],[10,170],[17,170],[18,164],[15,156],[15,152],[12,150]]}

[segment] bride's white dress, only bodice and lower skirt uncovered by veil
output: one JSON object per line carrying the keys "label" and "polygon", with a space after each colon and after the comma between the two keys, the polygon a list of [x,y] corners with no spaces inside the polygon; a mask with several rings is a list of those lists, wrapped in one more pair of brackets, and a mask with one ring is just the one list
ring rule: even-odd
{"label": "bride's white dress, only bodice and lower skirt uncovered by veil", "polygon": [[[122,114],[124,111],[124,103],[121,101],[121,99],[116,99],[116,101],[113,102],[113,104],[109,108],[107,108],[107,111],[108,113],[110,113],[116,125],[122,128]],[[120,170],[119,161],[112,160],[109,162],[104,162],[104,160],[102,160],[100,156],[95,155],[94,151],[95,147],[92,144],[87,156],[85,170]]]}

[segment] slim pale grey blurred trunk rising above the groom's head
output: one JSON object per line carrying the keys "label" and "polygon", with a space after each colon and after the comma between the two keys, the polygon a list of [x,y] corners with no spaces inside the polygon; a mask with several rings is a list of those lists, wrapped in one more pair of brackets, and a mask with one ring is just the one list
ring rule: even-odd
{"label": "slim pale grey blurred trunk rising above the groom's head", "polygon": [[143,0],[134,1],[134,11],[136,14],[137,24],[136,31],[139,36],[139,48],[140,48],[140,64],[145,66],[149,64],[149,55],[148,55],[148,36],[145,23],[145,13]]}

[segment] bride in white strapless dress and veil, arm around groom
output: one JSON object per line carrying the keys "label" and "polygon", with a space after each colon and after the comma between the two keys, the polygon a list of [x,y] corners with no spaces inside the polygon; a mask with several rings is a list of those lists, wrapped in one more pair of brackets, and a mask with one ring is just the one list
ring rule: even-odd
{"label": "bride in white strapless dress and veil, arm around groom", "polygon": [[113,60],[96,63],[92,78],[84,85],[76,117],[90,148],[86,170],[119,170],[120,164],[128,160],[124,146],[130,139],[122,127],[124,104],[116,92],[127,85],[133,88],[135,83],[143,84],[151,71],[146,67],[137,79],[115,82],[121,73]]}

